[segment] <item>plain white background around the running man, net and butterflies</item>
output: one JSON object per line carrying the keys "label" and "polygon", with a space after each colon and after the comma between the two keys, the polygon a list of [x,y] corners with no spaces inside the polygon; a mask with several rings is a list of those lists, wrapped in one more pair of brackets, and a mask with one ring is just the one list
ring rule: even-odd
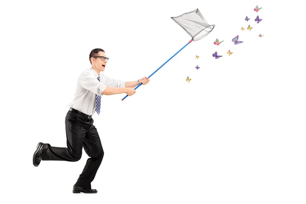
{"label": "plain white background around the running man, net and butterflies", "polygon": [[[208,36],[135,95],[103,96],[93,116],[105,151],[97,194],[72,194],[85,151],[78,162],[33,166],[38,142],[66,147],[67,104],[93,48],[106,50],[109,77],[138,80],[191,39],[170,17],[196,8],[216,26]],[[305,203],[301,9],[293,1],[2,2],[3,203]],[[237,35],[244,42],[234,45]]]}

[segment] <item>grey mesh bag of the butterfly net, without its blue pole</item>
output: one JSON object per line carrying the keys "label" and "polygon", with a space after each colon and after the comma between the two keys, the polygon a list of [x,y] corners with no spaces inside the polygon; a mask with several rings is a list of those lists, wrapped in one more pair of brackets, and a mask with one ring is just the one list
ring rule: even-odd
{"label": "grey mesh bag of the butterfly net, without its blue pole", "polygon": [[190,37],[192,37],[193,41],[202,39],[215,28],[215,25],[210,25],[205,20],[198,9],[171,18],[177,24],[181,25]]}

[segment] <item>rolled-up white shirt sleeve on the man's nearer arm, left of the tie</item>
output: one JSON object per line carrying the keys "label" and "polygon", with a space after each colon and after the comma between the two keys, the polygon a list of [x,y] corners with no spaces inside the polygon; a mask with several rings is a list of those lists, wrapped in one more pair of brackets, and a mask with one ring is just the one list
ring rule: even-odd
{"label": "rolled-up white shirt sleeve on the man's nearer arm, left of the tie", "polygon": [[97,94],[102,95],[102,92],[106,89],[106,85],[99,82],[98,79],[93,78],[89,73],[82,75],[79,78],[79,83],[81,87]]}

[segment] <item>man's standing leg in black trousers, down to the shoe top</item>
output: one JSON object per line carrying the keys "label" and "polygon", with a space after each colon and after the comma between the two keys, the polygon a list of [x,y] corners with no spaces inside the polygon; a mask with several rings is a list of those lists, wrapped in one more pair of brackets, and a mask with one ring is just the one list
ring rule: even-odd
{"label": "man's standing leg in black trousers, down to the shoe top", "polygon": [[[93,122],[93,119],[91,122]],[[86,154],[90,158],[87,160],[83,172],[80,174],[80,177],[75,185],[82,188],[91,189],[91,182],[94,180],[104,156],[99,134],[93,124],[91,124],[90,130],[84,137],[83,147]]]}

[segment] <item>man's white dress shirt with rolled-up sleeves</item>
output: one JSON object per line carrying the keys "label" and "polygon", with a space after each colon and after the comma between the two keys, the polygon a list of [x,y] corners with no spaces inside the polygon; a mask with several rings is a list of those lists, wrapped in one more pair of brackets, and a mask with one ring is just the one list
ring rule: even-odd
{"label": "man's white dress shirt with rolled-up sleeves", "polygon": [[[100,77],[100,81],[98,80],[98,77]],[[124,88],[125,82],[111,79],[104,74],[98,75],[93,68],[88,68],[80,74],[74,99],[67,106],[87,115],[93,115],[96,112],[96,95],[101,96],[101,93],[107,86]]]}

